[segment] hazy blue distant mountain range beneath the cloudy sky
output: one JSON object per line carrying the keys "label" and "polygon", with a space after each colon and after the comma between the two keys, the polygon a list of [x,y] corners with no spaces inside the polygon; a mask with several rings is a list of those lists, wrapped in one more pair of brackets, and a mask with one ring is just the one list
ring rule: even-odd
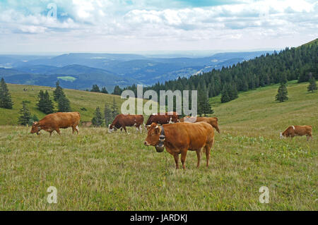
{"label": "hazy blue distant mountain range beneath the cloudy sky", "polygon": [[201,58],[159,58],[138,54],[62,54],[60,56],[0,55],[0,77],[8,83],[86,89],[97,84],[112,91],[115,85],[153,85],[189,77],[213,68],[254,59],[273,51],[226,52]]}

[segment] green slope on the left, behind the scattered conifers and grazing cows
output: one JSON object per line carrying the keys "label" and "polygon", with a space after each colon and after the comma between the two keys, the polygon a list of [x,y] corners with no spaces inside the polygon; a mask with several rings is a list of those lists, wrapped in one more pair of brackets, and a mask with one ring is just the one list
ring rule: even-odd
{"label": "green slope on the left, behind the scattered conifers and grazing cows", "polygon": [[[11,93],[14,105],[13,109],[1,109],[0,108],[0,125],[16,125],[18,123],[18,112],[22,107],[22,101],[29,101],[28,107],[32,114],[37,115],[37,118],[45,116],[41,111],[37,110],[37,95],[40,90],[47,90],[49,96],[53,97],[54,87],[41,87],[33,85],[13,85],[7,84]],[[23,88],[27,91],[23,91]],[[81,113],[81,121],[90,121],[93,118],[93,113],[96,107],[100,107],[103,111],[105,103],[112,105],[113,98],[117,102],[117,107],[120,110],[120,105],[124,102],[118,95],[107,95],[95,92],[86,92],[81,90],[64,89],[66,97],[71,102],[71,109],[73,111],[79,111]],[[57,106],[57,103],[55,103]],[[81,110],[86,108],[87,111]]]}

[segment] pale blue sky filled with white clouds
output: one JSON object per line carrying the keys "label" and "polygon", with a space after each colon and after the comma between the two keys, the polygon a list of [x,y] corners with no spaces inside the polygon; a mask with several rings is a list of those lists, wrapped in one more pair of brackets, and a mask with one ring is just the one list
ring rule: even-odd
{"label": "pale blue sky filled with white clouds", "polygon": [[312,0],[0,0],[0,53],[282,49],[317,38],[317,15]]}

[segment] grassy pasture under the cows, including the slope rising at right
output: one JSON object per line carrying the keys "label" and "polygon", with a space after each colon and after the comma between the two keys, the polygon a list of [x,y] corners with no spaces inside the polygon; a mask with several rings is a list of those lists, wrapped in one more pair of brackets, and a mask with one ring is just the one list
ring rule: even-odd
{"label": "grassy pasture under the cows, including the slope rising at right", "polygon": [[[284,103],[274,101],[278,85],[225,104],[211,99],[221,134],[208,168],[203,156],[196,169],[189,152],[187,169],[176,170],[170,154],[145,147],[146,132],[132,128],[130,135],[80,128],[49,138],[1,126],[0,209],[317,210],[318,93],[306,87],[289,83]],[[313,126],[314,140],[279,139],[287,126],[302,124]],[[47,202],[49,186],[57,188],[57,204]],[[269,188],[268,204],[259,202],[261,186]]]}

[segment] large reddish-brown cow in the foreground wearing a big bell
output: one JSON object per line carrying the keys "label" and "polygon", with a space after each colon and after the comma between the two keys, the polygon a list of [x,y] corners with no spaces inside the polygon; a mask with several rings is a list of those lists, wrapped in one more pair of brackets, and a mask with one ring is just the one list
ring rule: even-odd
{"label": "large reddish-brown cow in the foreground wearing a big bell", "polygon": [[163,126],[152,123],[143,144],[155,146],[157,152],[163,152],[165,147],[167,152],[175,157],[177,169],[179,169],[179,154],[181,154],[182,167],[185,169],[185,159],[188,150],[196,151],[196,156],[198,157],[196,167],[200,166],[202,147],[204,147],[206,152],[206,166],[208,166],[213,142],[214,130],[208,123],[175,123]]}

